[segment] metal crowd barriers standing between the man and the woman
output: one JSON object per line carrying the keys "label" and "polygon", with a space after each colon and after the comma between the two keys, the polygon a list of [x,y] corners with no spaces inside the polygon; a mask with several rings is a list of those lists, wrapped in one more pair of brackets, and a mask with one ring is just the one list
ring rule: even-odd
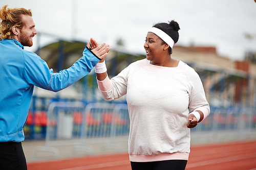
{"label": "metal crowd barriers standing between the man and the woman", "polygon": [[72,145],[72,152],[94,152],[89,143],[102,143],[101,150],[120,150],[116,137],[129,135],[130,120],[126,104],[82,102],[52,102],[48,109],[46,145],[34,149],[53,152],[59,156],[57,146]]}

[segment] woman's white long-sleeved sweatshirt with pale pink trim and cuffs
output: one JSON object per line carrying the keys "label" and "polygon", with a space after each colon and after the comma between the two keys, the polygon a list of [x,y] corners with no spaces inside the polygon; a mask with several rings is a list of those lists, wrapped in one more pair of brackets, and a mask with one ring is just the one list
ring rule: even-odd
{"label": "woman's white long-sleeved sweatshirt with pale pink trim and cuffs", "polygon": [[135,162],[183,159],[190,152],[189,111],[208,116],[210,109],[197,72],[179,61],[177,67],[136,61],[120,74],[98,81],[104,99],[126,94],[130,116],[129,154]]}

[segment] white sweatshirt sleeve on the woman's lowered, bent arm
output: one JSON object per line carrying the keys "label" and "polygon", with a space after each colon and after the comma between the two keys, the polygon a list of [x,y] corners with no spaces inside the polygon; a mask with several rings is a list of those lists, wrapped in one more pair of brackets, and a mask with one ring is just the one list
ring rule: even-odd
{"label": "white sweatshirt sleeve on the woman's lowered, bent arm", "polygon": [[206,100],[203,83],[194,69],[187,72],[187,77],[190,83],[189,110],[190,112],[202,111],[205,119],[210,113],[210,107]]}

